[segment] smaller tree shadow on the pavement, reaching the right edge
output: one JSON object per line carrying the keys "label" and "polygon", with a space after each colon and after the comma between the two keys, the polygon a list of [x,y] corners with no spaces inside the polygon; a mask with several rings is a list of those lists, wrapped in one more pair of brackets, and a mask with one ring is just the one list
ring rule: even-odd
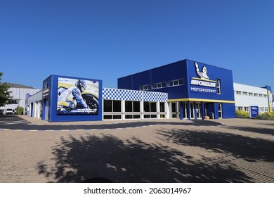
{"label": "smaller tree shadow on the pavement, reaching the right edge", "polygon": [[[241,128],[237,127],[237,129]],[[242,158],[249,162],[256,160],[274,162],[273,141],[209,130],[201,132],[171,129],[169,131],[158,131],[158,134],[164,136],[164,139],[172,143],[202,147],[218,153],[233,155],[235,158]]]}

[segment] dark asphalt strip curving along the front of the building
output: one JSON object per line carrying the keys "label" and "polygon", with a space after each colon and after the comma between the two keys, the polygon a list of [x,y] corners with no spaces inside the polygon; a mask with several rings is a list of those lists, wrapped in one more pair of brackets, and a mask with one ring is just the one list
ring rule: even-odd
{"label": "dark asphalt strip curving along the front of the building", "polygon": [[[24,117],[24,118],[22,118]],[[86,124],[86,122],[79,122],[77,124],[75,122],[59,122],[52,124],[47,122],[46,125],[36,125],[35,121],[30,122],[32,117],[20,116],[20,115],[0,115],[0,129],[20,129],[20,130],[90,130],[90,129],[119,129],[119,128],[132,128],[132,127],[147,127],[150,125],[192,125],[192,126],[218,126],[222,125],[219,122],[214,122],[211,120],[127,120],[127,121],[101,121],[96,122],[92,125],[90,122]],[[32,118],[34,119],[34,118]],[[57,125],[56,125],[57,124]],[[58,125],[59,124],[59,125]]]}

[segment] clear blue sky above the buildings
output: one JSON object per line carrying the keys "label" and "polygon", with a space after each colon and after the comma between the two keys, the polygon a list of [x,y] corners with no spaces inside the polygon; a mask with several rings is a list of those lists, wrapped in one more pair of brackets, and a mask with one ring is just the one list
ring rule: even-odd
{"label": "clear blue sky above the buildings", "polygon": [[0,0],[1,82],[103,80],[188,58],[274,91],[273,0]]}

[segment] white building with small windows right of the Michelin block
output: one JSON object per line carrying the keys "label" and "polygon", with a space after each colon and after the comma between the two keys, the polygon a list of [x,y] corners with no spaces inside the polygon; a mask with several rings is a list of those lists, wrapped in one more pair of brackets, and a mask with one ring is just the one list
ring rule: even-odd
{"label": "white building with small windows right of the Michelin block", "polygon": [[[249,111],[249,106],[258,106],[259,112],[272,110],[269,106],[268,89],[266,87],[254,87],[246,84],[233,83],[236,110]],[[272,101],[271,101],[272,103]]]}

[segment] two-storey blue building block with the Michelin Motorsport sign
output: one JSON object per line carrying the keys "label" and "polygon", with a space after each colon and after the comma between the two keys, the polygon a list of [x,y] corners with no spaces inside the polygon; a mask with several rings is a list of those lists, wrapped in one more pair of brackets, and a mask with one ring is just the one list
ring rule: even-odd
{"label": "two-storey blue building block with the Michelin Motorsport sign", "polygon": [[233,73],[213,65],[187,59],[178,61],[121,77],[118,89],[167,93],[167,117],[235,117]]}

